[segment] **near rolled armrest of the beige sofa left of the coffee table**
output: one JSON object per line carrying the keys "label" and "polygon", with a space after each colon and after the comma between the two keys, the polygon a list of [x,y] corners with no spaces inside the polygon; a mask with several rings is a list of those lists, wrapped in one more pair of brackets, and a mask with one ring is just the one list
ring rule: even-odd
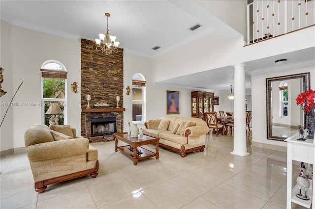
{"label": "near rolled armrest of the beige sofa left of the coffee table", "polygon": [[66,139],[33,144],[26,147],[26,153],[30,161],[39,161],[81,155],[89,151],[89,146],[87,138]]}

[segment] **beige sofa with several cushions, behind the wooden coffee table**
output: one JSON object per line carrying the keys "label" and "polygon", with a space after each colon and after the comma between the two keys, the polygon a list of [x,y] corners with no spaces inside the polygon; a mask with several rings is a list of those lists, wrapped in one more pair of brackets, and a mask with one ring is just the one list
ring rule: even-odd
{"label": "beige sofa with several cushions, behind the wooden coffee table", "polygon": [[204,120],[189,117],[164,116],[145,122],[145,126],[144,134],[160,138],[161,147],[179,152],[182,157],[196,150],[203,152],[209,132]]}

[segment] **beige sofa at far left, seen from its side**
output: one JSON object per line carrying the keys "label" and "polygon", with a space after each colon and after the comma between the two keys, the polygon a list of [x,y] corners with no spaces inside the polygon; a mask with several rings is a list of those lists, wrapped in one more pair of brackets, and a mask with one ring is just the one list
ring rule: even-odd
{"label": "beige sofa at far left, seen from its side", "polygon": [[25,132],[25,147],[38,193],[52,183],[98,174],[97,150],[68,125],[31,126]]}

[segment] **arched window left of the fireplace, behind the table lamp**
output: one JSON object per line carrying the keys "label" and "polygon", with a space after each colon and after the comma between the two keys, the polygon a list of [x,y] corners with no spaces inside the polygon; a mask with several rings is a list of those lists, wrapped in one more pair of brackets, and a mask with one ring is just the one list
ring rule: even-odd
{"label": "arched window left of the fireplace, behind the table lamp", "polygon": [[66,124],[66,69],[57,60],[47,60],[40,71],[42,123],[47,126]]}

